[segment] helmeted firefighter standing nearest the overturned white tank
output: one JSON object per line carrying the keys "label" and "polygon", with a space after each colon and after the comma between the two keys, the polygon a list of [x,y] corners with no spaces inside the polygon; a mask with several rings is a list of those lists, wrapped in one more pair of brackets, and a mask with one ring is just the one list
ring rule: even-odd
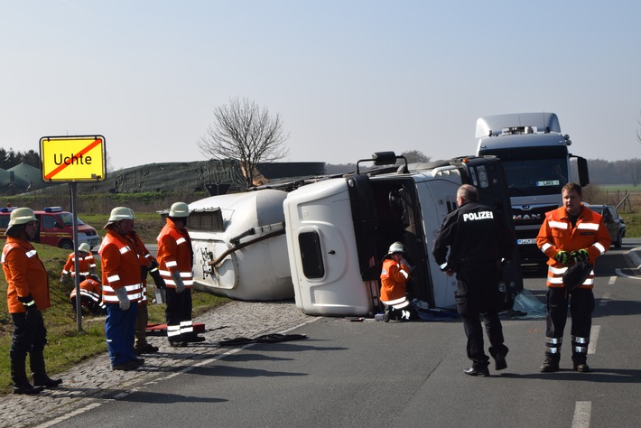
{"label": "helmeted firefighter standing nearest the overturned white tank", "polygon": [[190,234],[185,227],[189,215],[190,209],[186,203],[174,203],[158,235],[158,263],[167,287],[167,339],[172,347],[184,347],[189,342],[205,340],[193,330],[191,320],[193,250]]}

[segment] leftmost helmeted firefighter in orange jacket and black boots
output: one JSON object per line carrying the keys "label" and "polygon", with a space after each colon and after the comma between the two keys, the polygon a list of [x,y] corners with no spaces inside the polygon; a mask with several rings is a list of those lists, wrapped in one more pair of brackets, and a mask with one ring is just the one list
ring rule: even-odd
{"label": "leftmost helmeted firefighter in orange jacket and black boots", "polygon": [[[5,231],[2,267],[7,283],[6,301],[14,321],[14,336],[9,349],[14,394],[38,394],[43,387],[55,387],[61,379],[51,379],[44,367],[47,330],[42,312],[51,306],[49,278],[35,248],[29,243],[38,230],[33,209],[11,211]],[[33,385],[26,376],[26,358],[33,372]]]}

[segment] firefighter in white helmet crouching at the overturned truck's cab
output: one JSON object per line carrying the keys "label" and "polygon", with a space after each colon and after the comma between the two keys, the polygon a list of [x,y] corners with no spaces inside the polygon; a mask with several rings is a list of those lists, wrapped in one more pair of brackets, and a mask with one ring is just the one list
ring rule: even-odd
{"label": "firefighter in white helmet crouching at the overturned truck's cab", "polygon": [[412,267],[404,258],[403,244],[395,242],[383,258],[381,269],[381,297],[386,306],[383,320],[410,321],[417,318],[412,304],[407,299],[407,279]]}

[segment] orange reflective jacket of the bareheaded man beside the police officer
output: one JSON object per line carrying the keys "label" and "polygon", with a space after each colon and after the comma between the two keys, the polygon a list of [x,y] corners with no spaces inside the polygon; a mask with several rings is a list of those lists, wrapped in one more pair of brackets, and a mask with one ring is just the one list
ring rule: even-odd
{"label": "orange reflective jacket of the bareheaded man beside the police officer", "polygon": [[[594,265],[596,258],[608,251],[610,244],[608,229],[599,213],[581,206],[579,219],[576,226],[572,228],[565,207],[546,212],[543,225],[536,237],[536,245],[541,248],[545,256],[550,257],[547,261],[547,286],[563,286],[562,276],[568,270],[568,266],[554,259],[559,251],[571,252],[585,248],[590,254],[590,263]],[[592,288],[593,285],[594,270],[579,287]]]}

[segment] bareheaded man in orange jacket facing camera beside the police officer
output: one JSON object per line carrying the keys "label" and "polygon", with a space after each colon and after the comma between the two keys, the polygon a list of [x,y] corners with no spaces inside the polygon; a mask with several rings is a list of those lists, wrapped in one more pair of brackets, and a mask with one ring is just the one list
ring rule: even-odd
{"label": "bareheaded man in orange jacket facing camera beside the police officer", "polygon": [[571,312],[572,363],[576,371],[588,372],[588,345],[594,310],[594,270],[588,279],[569,292],[562,276],[574,259],[590,261],[604,254],[610,246],[608,229],[601,216],[581,204],[581,186],[570,182],[562,188],[562,207],[545,213],[536,244],[548,260],[547,327],[545,359],[542,372],[559,369],[563,330],[568,304]]}

